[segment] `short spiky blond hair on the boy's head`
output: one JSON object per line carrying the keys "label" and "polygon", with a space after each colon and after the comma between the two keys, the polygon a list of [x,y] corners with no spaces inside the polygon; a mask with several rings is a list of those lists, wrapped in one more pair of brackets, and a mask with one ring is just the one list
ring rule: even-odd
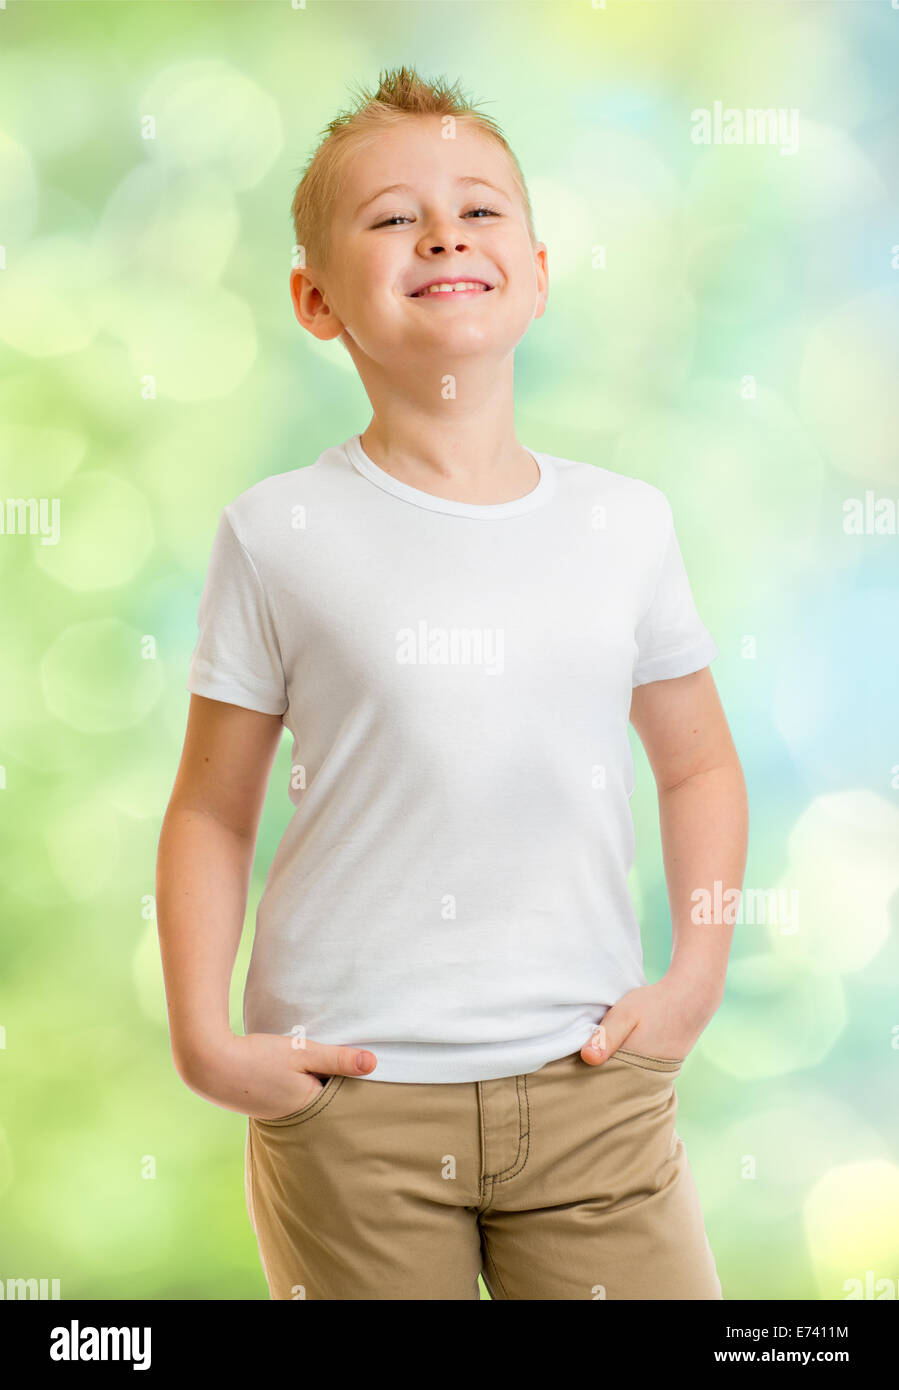
{"label": "short spiky blond hair on the boy's head", "polygon": [[425,82],[414,68],[400,67],[382,72],[374,93],[357,93],[357,104],[329,121],[324,136],[308,160],[290,204],[293,234],[297,249],[303,250],[303,264],[325,270],[331,249],[331,220],[340,188],[340,177],[347,157],[378,133],[410,115],[452,115],[470,122],[495,139],[506,152],[514,185],[524,206],[531,243],[536,245],[534,210],[521,172],[496,121],[442,78]]}

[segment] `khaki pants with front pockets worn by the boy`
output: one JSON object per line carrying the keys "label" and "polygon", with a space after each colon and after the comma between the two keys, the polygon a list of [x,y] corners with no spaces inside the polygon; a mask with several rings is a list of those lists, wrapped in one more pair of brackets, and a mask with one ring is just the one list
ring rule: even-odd
{"label": "khaki pants with front pockets worn by the boy", "polygon": [[723,1298],[684,1141],[681,1063],[579,1052],[527,1076],[332,1076],[249,1119],[272,1298]]}

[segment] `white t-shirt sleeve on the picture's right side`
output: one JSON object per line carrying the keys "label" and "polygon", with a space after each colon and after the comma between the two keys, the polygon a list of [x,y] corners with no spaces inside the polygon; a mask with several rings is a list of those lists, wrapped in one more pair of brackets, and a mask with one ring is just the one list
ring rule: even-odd
{"label": "white t-shirt sleeve on the picture's right side", "polygon": [[666,513],[659,578],[649,607],[634,631],[636,641],[634,685],[689,676],[691,671],[702,670],[718,655],[718,648],[693,603],[667,498]]}

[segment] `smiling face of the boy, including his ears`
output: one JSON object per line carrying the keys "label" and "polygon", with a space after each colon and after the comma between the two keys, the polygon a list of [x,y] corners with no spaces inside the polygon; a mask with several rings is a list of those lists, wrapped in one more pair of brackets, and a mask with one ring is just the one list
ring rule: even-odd
{"label": "smiling face of the boy, including his ears", "polygon": [[[303,327],[340,335],[363,375],[365,359],[386,374],[499,363],[546,307],[546,247],[531,245],[502,146],[464,121],[454,139],[440,132],[439,117],[410,117],[361,146],[335,208],[331,267],[290,275]],[[460,277],[490,288],[414,293]]]}

